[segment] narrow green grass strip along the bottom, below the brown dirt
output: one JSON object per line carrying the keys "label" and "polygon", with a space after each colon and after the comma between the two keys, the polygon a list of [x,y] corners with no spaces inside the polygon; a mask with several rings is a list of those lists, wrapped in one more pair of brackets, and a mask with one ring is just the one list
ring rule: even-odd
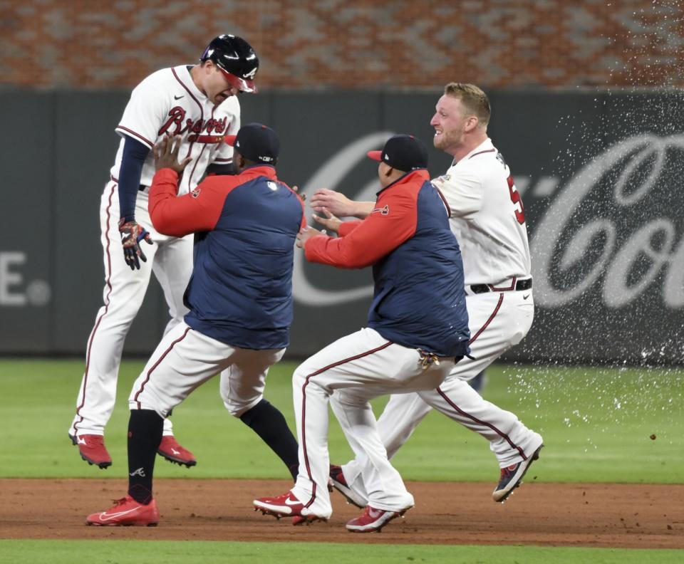
{"label": "narrow green grass strip along the bottom, below the brown dirt", "polygon": [[336,543],[202,543],[190,541],[0,541],[0,564],[244,563],[301,564],[605,564],[679,563],[681,550],[546,548],[540,546],[369,545]]}

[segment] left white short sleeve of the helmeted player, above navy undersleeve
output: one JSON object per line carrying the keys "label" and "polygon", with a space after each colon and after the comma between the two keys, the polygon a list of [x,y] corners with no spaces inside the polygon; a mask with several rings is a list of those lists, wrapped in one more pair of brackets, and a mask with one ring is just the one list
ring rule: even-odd
{"label": "left white short sleeve of the helmeted player, above navy undersleeve", "polygon": [[145,143],[150,149],[155,146],[162,122],[170,110],[167,95],[160,92],[155,74],[142,80],[133,89],[115,130],[119,135],[129,135]]}

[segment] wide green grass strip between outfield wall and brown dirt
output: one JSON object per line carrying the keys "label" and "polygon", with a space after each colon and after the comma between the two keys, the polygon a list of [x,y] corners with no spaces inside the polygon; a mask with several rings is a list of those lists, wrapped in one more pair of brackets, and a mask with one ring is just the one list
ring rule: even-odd
{"label": "wide green grass strip between outfield wall and brown dirt", "polygon": [[[88,466],[67,437],[81,380],[80,360],[0,361],[0,477],[125,476],[126,399],[142,361],[122,365],[115,412],[107,428],[114,465]],[[294,429],[291,372],[271,370],[266,397]],[[684,372],[597,368],[497,366],[484,397],[509,409],[544,435],[534,466],[538,481],[684,483]],[[383,400],[374,404],[379,413]],[[173,416],[177,437],[199,464],[190,470],[160,461],[159,477],[285,478],[271,451],[225,411],[216,379],[200,387]],[[650,437],[654,436],[655,439]],[[336,422],[331,459],[351,451]],[[395,457],[405,479],[495,481],[498,469],[487,443],[432,413]]]}

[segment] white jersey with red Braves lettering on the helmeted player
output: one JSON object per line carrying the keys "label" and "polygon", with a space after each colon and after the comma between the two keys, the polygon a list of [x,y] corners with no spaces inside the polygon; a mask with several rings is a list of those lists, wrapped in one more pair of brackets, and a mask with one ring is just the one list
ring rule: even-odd
{"label": "white jersey with red Braves lettering on the helmeted player", "polygon": [[[162,68],[149,75],[133,89],[116,132],[121,135],[119,150],[111,174],[119,177],[125,135],[147,147],[154,147],[167,135],[180,135],[179,160],[192,157],[180,179],[178,194],[194,189],[207,166],[232,162],[233,147],[222,142],[224,135],[234,135],[240,128],[240,105],[231,96],[214,106],[192,81],[187,66]],[[155,175],[152,151],[142,166],[140,184],[150,186]]]}

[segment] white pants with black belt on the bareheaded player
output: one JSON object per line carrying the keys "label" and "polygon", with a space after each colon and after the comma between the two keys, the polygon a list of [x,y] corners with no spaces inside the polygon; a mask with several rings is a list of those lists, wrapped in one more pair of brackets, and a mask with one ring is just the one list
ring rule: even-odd
{"label": "white pants with black belt on the bareheaded player", "polygon": [[[526,459],[541,445],[539,434],[525,427],[512,412],[487,402],[467,383],[527,335],[534,318],[532,292],[469,294],[466,304],[473,358],[458,362],[435,389],[390,397],[378,419],[378,431],[390,459],[432,408],[487,439],[501,468]],[[337,415],[343,398],[336,396],[331,407]],[[342,467],[348,485],[365,498],[370,495],[365,484],[367,464],[357,455]]]}

